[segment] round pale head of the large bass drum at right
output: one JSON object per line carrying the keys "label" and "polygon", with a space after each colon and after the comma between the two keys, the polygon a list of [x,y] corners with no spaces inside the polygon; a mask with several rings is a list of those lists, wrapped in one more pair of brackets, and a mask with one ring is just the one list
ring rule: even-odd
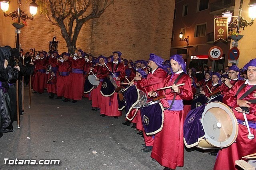
{"label": "round pale head of the large bass drum at right", "polygon": [[[237,137],[237,119],[233,111],[224,103],[207,104],[200,121],[204,128],[205,140],[212,146],[218,148],[230,146]],[[198,147],[200,148],[200,143]]]}

